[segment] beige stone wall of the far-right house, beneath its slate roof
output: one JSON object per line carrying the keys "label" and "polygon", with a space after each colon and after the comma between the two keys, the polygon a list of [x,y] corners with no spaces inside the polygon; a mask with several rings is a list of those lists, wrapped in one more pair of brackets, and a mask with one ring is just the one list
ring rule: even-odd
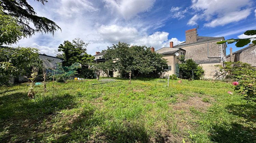
{"label": "beige stone wall of the far-right house, beneath its slate roof", "polygon": [[256,46],[242,51],[238,57],[241,62],[256,66]]}

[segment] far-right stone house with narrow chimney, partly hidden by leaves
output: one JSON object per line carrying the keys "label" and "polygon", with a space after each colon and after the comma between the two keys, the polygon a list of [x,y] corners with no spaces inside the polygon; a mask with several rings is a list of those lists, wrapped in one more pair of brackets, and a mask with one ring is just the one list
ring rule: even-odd
{"label": "far-right stone house with narrow chimney, partly hidden by leaves", "polygon": [[256,46],[254,44],[249,44],[249,46],[236,52],[232,52],[232,48],[230,48],[230,54],[227,55],[227,61],[241,61],[256,66]]}

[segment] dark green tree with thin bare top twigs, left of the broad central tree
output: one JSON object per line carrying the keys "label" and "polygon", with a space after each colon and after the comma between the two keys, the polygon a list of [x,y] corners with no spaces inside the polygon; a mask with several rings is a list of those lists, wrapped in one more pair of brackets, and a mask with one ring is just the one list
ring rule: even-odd
{"label": "dark green tree with thin bare top twigs, left of the broad central tree", "polygon": [[75,62],[88,65],[94,61],[94,57],[85,52],[88,43],[85,44],[80,38],[74,39],[72,43],[64,41],[63,44],[58,47],[58,52],[63,52],[62,54],[59,53],[58,57],[65,59],[63,66],[70,66]]}

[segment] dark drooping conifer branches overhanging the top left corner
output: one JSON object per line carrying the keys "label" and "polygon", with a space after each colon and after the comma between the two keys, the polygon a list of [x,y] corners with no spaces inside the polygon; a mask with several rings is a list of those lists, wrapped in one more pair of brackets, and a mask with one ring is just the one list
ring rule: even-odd
{"label": "dark drooping conifer branches overhanging the top left corner", "polygon": [[[36,0],[44,4],[47,0]],[[60,29],[55,22],[45,17],[36,15],[33,7],[28,4],[27,0],[0,0],[0,6],[3,7],[4,13],[18,18],[18,24],[24,26],[23,32],[26,35],[33,35],[35,32],[52,33]],[[34,28],[29,26],[32,22]],[[61,30],[61,29],[60,29]]]}

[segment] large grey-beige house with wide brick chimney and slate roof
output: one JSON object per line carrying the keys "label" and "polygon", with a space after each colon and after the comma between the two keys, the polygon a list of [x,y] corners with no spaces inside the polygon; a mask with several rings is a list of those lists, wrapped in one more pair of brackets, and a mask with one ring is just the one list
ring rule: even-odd
{"label": "large grey-beige house with wide brick chimney and slate roof", "polygon": [[198,36],[196,28],[185,31],[185,37],[185,42],[173,48],[185,50],[186,59],[193,59],[203,67],[204,78],[213,79],[218,70],[214,65],[223,65],[226,61],[226,43],[216,44],[218,41],[225,40],[224,37]]}

